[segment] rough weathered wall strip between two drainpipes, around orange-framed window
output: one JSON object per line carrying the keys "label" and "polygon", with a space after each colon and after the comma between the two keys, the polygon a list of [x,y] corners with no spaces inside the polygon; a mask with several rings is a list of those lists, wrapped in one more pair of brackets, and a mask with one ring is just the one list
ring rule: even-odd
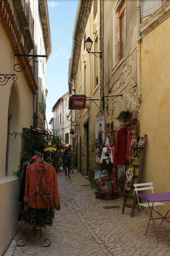
{"label": "rough weathered wall strip between two drainpipes, around orange-framed window", "polygon": [[[106,123],[114,120],[114,129],[117,130],[123,122],[123,120],[117,119],[121,112],[140,108],[137,99],[136,3],[135,1],[126,1],[125,56],[114,67],[115,45],[112,34],[115,32],[115,19],[117,19],[115,6],[118,3],[118,1],[104,1],[104,93],[105,95],[123,94],[123,97],[105,98],[105,106],[108,109],[105,111],[105,116]],[[139,114],[138,120],[140,122]],[[138,132],[140,132],[140,127]]]}

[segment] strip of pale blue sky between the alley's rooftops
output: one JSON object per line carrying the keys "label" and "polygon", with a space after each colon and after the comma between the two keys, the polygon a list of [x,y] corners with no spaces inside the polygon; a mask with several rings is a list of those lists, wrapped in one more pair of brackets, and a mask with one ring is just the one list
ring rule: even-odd
{"label": "strip of pale blue sky between the alley's rooftops", "polygon": [[52,52],[46,66],[46,118],[49,125],[52,107],[68,92],[68,62],[72,53],[72,33],[78,0],[47,0]]}

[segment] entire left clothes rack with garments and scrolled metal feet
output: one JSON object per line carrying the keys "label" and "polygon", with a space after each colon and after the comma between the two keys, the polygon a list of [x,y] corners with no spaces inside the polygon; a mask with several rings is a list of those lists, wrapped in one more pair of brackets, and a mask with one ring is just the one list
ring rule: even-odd
{"label": "entire left clothes rack with garments and scrolled metal feet", "polygon": [[[50,166],[50,164],[47,164],[47,163],[44,164],[43,154],[42,156],[38,158],[37,157],[35,158],[36,161],[33,163],[35,164],[34,166],[33,164],[29,164],[29,163],[26,163],[26,165],[23,166],[24,168],[22,173],[20,195],[19,195],[19,202],[20,202],[19,204],[20,219],[19,220],[21,220],[19,231],[24,230],[24,232],[22,232],[22,236],[19,237],[19,239],[17,239],[18,246],[25,246],[27,244],[28,238],[33,234],[34,236],[36,236],[37,234],[39,235],[40,243],[42,244],[43,247],[50,246],[50,239],[42,238],[42,228],[45,228],[46,230],[46,225],[52,226],[52,219],[54,218],[54,212],[55,212],[54,209],[57,209],[57,210],[60,209],[58,179],[56,175],[56,170],[54,167]],[[50,170],[50,172],[48,172],[48,170]],[[44,172],[43,179],[41,176],[42,172]],[[31,179],[30,175],[32,175],[34,179]],[[48,178],[48,175],[50,175],[49,178]],[[51,186],[48,186],[49,184],[47,182],[48,182],[48,179],[51,180],[50,179],[51,177],[54,177],[54,179],[52,179],[51,181],[52,182]],[[26,182],[27,179],[29,179],[29,181],[34,180],[33,183],[31,183],[32,184],[31,188],[34,189],[33,190],[34,192],[32,192],[32,194],[29,194],[29,186],[27,186],[27,182],[29,183],[29,181]],[[35,180],[37,181],[35,182]],[[41,184],[43,184],[43,188]],[[45,190],[46,186],[48,188],[47,192]],[[37,202],[36,200],[35,201],[29,200],[29,198],[34,198],[30,196],[35,196],[35,198],[37,198],[38,195],[40,198],[38,199],[38,203],[35,204],[35,202]],[[40,202],[43,202],[43,203],[40,204]]]}

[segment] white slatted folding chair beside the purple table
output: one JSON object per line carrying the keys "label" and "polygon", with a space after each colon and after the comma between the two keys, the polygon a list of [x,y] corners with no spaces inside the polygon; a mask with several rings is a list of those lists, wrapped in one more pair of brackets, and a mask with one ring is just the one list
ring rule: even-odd
{"label": "white slatted folding chair beside the purple table", "polygon": [[[143,218],[144,218],[144,213],[146,212],[146,207],[149,207],[149,205],[150,205],[150,207],[152,207],[153,203],[152,202],[140,203],[139,202],[139,196],[138,196],[139,194],[138,194],[138,192],[139,191],[150,190],[150,193],[153,193],[153,182],[134,184],[134,189],[135,189],[135,193],[137,195],[138,205],[139,205],[139,207],[141,209],[141,214],[143,215]],[[164,204],[160,203],[160,202],[155,202],[153,207],[160,206],[160,209],[161,209],[162,205],[164,205]],[[143,211],[142,207],[145,208],[144,211]],[[158,212],[160,212],[160,209],[158,210]],[[144,220],[145,220],[145,218],[144,218]]]}

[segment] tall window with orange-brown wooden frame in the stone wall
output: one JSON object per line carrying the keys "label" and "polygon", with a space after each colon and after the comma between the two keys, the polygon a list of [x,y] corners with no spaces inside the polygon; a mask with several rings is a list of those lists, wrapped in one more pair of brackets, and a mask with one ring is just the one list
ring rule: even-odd
{"label": "tall window with orange-brown wooden frame in the stone wall", "polygon": [[112,9],[112,64],[113,68],[125,56],[125,1],[117,0]]}

